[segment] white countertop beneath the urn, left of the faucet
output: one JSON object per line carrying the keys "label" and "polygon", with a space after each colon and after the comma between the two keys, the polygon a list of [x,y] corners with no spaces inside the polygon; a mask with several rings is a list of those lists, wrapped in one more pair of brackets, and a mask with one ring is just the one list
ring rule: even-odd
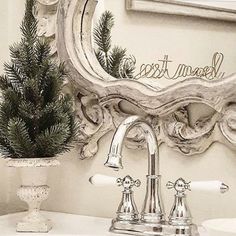
{"label": "white countertop beneath the urn, left of the faucet", "polygon": [[[114,234],[109,232],[111,219],[92,216],[81,216],[58,212],[42,212],[53,222],[53,228],[49,235],[83,235],[83,236],[121,236],[123,234]],[[16,233],[16,223],[25,215],[25,213],[15,213],[0,216],[0,235],[21,235],[38,236],[45,233]],[[207,236],[204,230],[199,228],[200,236]],[[124,236],[124,235],[123,235]]]}

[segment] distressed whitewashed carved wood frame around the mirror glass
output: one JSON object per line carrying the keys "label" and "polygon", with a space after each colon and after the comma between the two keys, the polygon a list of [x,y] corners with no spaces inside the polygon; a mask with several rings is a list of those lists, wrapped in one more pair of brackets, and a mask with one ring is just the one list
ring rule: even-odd
{"label": "distressed whitewashed carved wood frame around the mirror glass", "polygon": [[[98,141],[130,114],[141,114],[155,128],[159,143],[185,155],[204,152],[219,141],[236,147],[236,75],[222,80],[190,78],[159,90],[133,80],[117,80],[100,67],[92,48],[95,0],[38,0],[39,34],[71,74],[66,89],[81,120],[80,157],[94,156]],[[206,104],[215,112],[190,124],[188,105]],[[125,104],[125,106],[124,106]],[[125,109],[129,104],[129,109]],[[128,110],[128,111],[127,111]],[[143,148],[139,130],[127,146]]]}

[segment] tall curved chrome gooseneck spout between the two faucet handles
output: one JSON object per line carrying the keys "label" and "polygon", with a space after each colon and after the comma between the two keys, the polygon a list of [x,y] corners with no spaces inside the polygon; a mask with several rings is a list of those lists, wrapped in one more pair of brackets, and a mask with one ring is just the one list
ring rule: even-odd
{"label": "tall curved chrome gooseneck spout between the two faucet handles", "polygon": [[135,126],[140,127],[143,131],[148,148],[146,197],[141,212],[141,220],[159,223],[163,221],[164,214],[160,196],[158,143],[153,128],[145,119],[139,116],[130,116],[120,124],[113,136],[108,158],[104,165],[114,170],[123,168],[122,148],[124,139]]}

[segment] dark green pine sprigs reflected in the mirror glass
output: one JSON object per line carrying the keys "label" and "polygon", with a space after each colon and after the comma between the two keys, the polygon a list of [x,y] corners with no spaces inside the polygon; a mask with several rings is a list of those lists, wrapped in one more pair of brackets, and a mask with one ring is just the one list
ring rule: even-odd
{"label": "dark green pine sprigs reflected in the mirror glass", "polygon": [[94,28],[94,41],[97,45],[96,57],[102,68],[115,78],[133,78],[134,64],[130,64],[126,49],[111,46],[111,30],[114,26],[114,16],[105,11]]}

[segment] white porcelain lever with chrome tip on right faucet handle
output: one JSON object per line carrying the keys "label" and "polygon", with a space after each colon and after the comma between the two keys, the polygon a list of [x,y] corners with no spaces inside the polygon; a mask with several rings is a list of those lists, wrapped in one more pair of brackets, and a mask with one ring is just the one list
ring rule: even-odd
{"label": "white porcelain lever with chrome tip on right faucet handle", "polygon": [[189,183],[191,191],[225,193],[229,187],[221,181],[193,181]]}

